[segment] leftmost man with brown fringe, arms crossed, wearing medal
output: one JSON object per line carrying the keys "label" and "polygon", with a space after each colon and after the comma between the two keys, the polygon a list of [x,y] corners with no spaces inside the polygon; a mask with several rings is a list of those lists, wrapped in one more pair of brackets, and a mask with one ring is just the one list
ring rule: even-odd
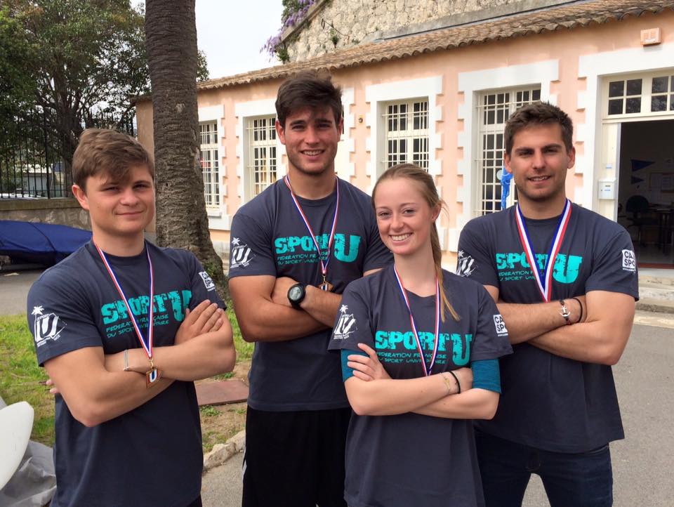
{"label": "leftmost man with brown fringe, arms crossed, wearing medal", "polygon": [[51,505],[201,506],[193,381],[234,367],[223,301],[192,254],[145,241],[154,163],[138,141],[87,129],[72,169],[93,237],[28,295],[56,395]]}

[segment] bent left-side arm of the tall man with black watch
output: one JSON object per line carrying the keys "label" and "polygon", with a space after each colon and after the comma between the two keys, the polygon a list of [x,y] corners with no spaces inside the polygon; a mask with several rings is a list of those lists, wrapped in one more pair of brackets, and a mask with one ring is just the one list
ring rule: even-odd
{"label": "bent left-side arm of the tall man with black watch", "polygon": [[[275,289],[277,278],[271,275],[253,275],[230,279],[230,293],[234,312],[244,340],[287,341],[313,334],[329,325],[319,322],[304,310],[292,308],[288,301],[288,288],[293,279],[284,278]],[[292,284],[290,282],[293,282]],[[275,294],[272,298],[272,294]]]}

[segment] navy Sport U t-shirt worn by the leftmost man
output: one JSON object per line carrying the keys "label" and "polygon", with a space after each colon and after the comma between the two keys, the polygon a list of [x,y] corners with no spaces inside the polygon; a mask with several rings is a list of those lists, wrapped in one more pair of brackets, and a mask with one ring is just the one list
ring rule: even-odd
{"label": "navy Sport U t-shirt worn by the leftmost man", "polygon": [[[199,261],[183,250],[146,243],[154,267],[154,345],[173,345],[193,309],[209,299],[224,308]],[[147,336],[150,282],[145,251],[107,256]],[[28,326],[39,364],[73,350],[105,354],[140,347],[98,251],[90,242],[46,270],[28,294]],[[184,507],[201,490],[201,426],[194,383],[174,381],[140,407],[93,428],[55,397],[53,507],[161,505]]]}

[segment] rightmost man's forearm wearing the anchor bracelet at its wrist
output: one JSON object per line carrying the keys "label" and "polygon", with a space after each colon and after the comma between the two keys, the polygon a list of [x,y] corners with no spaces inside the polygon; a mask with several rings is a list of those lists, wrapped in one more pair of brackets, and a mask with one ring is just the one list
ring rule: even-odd
{"label": "rightmost man's forearm wearing the anchor bracelet at its wrist", "polygon": [[[550,303],[503,303],[498,299],[498,288],[485,285],[503,317],[505,327],[508,328],[510,343],[522,343],[541,334],[553,331],[559,327],[567,326],[567,321],[562,317],[560,310],[562,305],[559,301]],[[585,296],[577,296],[576,299],[564,300],[567,309],[571,312],[569,320],[572,324],[578,323],[579,319],[585,320],[587,312],[581,305],[585,305]]]}

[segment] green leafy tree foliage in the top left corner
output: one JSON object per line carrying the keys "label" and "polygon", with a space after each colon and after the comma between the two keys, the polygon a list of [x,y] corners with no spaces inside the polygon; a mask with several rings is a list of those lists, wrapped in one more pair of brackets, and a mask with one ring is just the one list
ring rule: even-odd
{"label": "green leafy tree foliage in the top left corner", "polygon": [[[118,127],[133,118],[131,98],[150,93],[142,8],[128,0],[3,5],[0,75],[8,70],[12,78],[0,88],[0,107],[11,105],[0,111],[3,129],[13,118],[35,117],[37,110],[70,161],[86,126]],[[200,64],[199,78],[207,79],[205,58]],[[115,121],[101,124],[102,116]]]}

